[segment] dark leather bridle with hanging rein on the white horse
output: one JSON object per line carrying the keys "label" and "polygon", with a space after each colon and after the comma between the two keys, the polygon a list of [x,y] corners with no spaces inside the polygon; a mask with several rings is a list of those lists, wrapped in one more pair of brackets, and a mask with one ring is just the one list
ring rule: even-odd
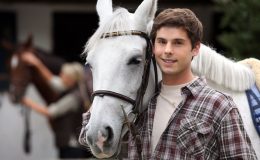
{"label": "dark leather bridle with hanging rein on the white horse", "polygon": [[[152,54],[152,43],[148,35],[144,32],[137,31],[137,30],[130,30],[130,31],[118,31],[118,32],[111,32],[111,33],[104,33],[101,38],[109,38],[109,37],[118,37],[118,36],[127,36],[127,35],[133,35],[133,36],[140,36],[146,40],[146,53],[145,53],[145,63],[144,63],[144,70],[143,70],[143,75],[142,75],[142,82],[140,84],[139,89],[137,90],[137,96],[136,99],[132,99],[128,96],[125,96],[121,93],[117,93],[114,91],[109,91],[109,90],[96,90],[92,93],[91,95],[91,100],[93,101],[95,96],[110,96],[110,97],[115,97],[118,99],[121,99],[123,101],[126,101],[130,104],[133,105],[133,111],[132,113],[135,114],[135,117],[137,117],[140,112],[141,112],[141,107],[143,105],[143,97],[146,92],[147,86],[148,86],[148,80],[149,80],[149,75],[150,75],[150,66],[151,66],[151,61],[153,62],[154,66],[154,75],[155,75],[155,92],[158,91],[158,76],[157,76],[157,67],[156,67],[156,62],[155,58]],[[136,132],[136,129],[134,127],[134,120],[129,121],[127,114],[125,113],[123,107],[122,107],[123,113],[124,113],[124,118],[125,118],[125,123],[131,132],[133,138],[135,139],[135,142],[137,144],[137,150],[138,150],[138,155],[139,159],[141,158],[141,140],[140,136]]]}

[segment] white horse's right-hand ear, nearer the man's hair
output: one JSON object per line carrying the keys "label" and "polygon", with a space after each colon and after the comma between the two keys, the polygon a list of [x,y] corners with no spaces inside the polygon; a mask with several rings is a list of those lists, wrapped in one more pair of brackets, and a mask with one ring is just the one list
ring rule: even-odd
{"label": "white horse's right-hand ear, nearer the man's hair", "polygon": [[147,25],[152,22],[157,10],[157,1],[144,0],[136,9],[134,16],[138,28],[146,30]]}

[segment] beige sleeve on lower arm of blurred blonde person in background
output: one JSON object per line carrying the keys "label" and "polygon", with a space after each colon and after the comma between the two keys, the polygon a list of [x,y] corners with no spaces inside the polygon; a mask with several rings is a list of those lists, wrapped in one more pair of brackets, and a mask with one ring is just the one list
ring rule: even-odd
{"label": "beige sleeve on lower arm of blurred blonde person in background", "polygon": [[50,104],[48,111],[51,118],[60,117],[69,112],[75,112],[80,105],[80,99],[73,92],[66,94],[55,103]]}

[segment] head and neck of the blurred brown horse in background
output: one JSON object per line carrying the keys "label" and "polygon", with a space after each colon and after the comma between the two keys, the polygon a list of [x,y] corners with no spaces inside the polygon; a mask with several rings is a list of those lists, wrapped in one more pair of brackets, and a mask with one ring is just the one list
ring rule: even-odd
{"label": "head and neck of the blurred brown horse in background", "polygon": [[22,54],[26,52],[32,52],[35,54],[54,74],[59,74],[62,64],[65,63],[65,61],[61,58],[33,48],[32,38],[29,37],[24,44],[18,47],[11,58],[11,83],[9,90],[11,101],[14,103],[19,102],[24,96],[29,83],[33,83],[35,85],[47,104],[56,101],[59,95],[51,89],[48,82],[44,81],[41,74],[39,74],[32,66],[21,60]]}

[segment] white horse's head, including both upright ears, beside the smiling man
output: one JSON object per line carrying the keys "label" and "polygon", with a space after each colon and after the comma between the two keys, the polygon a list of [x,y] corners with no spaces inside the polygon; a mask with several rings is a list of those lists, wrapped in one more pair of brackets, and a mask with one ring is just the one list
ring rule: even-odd
{"label": "white horse's head, including both upright ears, beside the smiling man", "polygon": [[[113,11],[111,0],[97,2],[99,28],[85,49],[86,61],[92,68],[94,91],[85,137],[98,158],[115,156],[120,148],[124,134],[123,110],[127,114],[133,110],[147,57],[148,43],[139,32],[149,32],[148,24],[154,18],[156,7],[156,0],[144,0],[134,13],[129,13],[124,8]],[[149,81],[148,93],[153,92],[152,83]],[[146,94],[144,103],[147,101]]]}

